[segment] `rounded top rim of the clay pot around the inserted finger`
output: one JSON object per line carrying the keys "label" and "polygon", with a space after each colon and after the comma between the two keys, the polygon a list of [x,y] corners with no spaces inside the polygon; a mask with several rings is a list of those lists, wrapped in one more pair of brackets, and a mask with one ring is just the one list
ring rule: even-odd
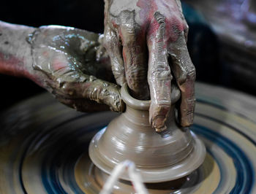
{"label": "rounded top rim of the clay pot around the inserted finger", "polygon": [[[181,92],[178,90],[176,85],[172,85],[172,93],[171,93],[171,103],[175,104],[176,101],[181,97]],[[129,95],[129,88],[127,83],[124,83],[121,87],[121,98],[123,99],[124,103],[127,104],[127,106],[132,107],[133,109],[137,110],[149,110],[149,107],[151,105],[151,101],[140,101],[136,98],[133,98]]]}

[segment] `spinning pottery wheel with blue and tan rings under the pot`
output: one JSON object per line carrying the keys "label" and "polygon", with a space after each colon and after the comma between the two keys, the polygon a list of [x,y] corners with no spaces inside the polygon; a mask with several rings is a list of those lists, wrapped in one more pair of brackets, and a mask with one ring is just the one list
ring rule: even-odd
{"label": "spinning pottery wheel with blue and tan rings under the pot", "polygon": [[[256,193],[256,99],[198,83],[196,94],[192,131],[206,144],[206,160],[161,191]],[[75,112],[48,93],[2,112],[0,193],[99,193],[106,175],[89,160],[89,141],[116,115]]]}

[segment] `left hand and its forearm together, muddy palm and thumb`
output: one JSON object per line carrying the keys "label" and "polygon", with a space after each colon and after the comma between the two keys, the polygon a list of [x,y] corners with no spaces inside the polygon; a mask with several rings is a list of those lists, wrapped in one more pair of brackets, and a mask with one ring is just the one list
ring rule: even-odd
{"label": "left hand and its forearm together, muddy palm and thumb", "polygon": [[[0,21],[0,73],[26,77],[83,112],[124,110],[99,34]],[[43,102],[42,102],[43,103]]]}

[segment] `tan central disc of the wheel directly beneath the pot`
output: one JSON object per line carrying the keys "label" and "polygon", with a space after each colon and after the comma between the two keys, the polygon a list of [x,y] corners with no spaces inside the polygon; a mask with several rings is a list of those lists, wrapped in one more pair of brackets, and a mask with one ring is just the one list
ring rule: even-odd
{"label": "tan central disc of the wheel directly beneath the pot", "polygon": [[[84,153],[75,164],[75,180],[83,193],[99,193],[109,175],[91,162]],[[146,183],[148,193],[214,193],[219,185],[219,166],[211,155],[206,154],[203,164],[181,179],[169,182]],[[131,182],[118,179],[113,187],[114,194],[135,193]]]}

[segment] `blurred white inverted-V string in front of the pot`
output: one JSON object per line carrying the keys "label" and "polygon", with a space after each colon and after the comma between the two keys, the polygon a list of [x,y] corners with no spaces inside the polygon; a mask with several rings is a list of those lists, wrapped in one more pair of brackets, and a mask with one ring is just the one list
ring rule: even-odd
{"label": "blurred white inverted-V string in front of the pot", "polygon": [[102,188],[102,191],[99,194],[110,194],[113,190],[115,183],[118,180],[118,177],[126,171],[129,178],[131,179],[132,185],[134,186],[135,192],[138,194],[148,194],[145,185],[142,182],[142,178],[138,172],[135,171],[135,163],[130,160],[124,160],[121,163],[118,163],[113,169],[110,177]]}

